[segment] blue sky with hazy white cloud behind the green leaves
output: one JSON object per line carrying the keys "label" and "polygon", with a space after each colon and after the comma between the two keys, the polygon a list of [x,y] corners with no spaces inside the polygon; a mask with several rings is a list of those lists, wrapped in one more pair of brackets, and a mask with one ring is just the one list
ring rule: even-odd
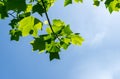
{"label": "blue sky with hazy white cloud behind the green leaves", "polygon": [[85,0],[64,8],[58,0],[49,10],[51,20],[62,19],[85,38],[51,62],[47,54],[32,52],[31,37],[10,41],[10,18],[1,20],[0,79],[120,79],[120,15],[92,4]]}

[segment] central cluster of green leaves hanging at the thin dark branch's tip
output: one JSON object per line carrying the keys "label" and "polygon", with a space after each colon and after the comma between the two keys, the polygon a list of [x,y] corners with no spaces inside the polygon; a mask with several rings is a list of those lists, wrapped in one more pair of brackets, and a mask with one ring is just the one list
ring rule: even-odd
{"label": "central cluster of green leaves hanging at the thin dark branch's tip", "polygon": [[50,60],[59,59],[59,52],[61,49],[67,49],[71,44],[81,45],[84,39],[78,33],[73,33],[69,25],[66,25],[59,19],[54,19],[52,23],[54,33],[50,27],[46,28],[47,34],[36,37],[31,45],[33,51],[39,50],[50,54]]}

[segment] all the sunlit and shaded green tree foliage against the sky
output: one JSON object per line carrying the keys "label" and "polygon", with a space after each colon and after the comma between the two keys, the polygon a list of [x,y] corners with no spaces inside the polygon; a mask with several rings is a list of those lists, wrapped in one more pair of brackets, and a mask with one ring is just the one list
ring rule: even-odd
{"label": "all the sunlit and shaded green tree foliage against the sky", "polygon": [[[60,19],[49,20],[47,12],[56,0],[0,0],[0,19],[13,17],[9,25],[11,40],[19,41],[20,37],[32,36],[30,42],[33,51],[46,52],[50,60],[60,59],[59,53],[71,44],[82,45],[84,39],[79,33],[73,33],[70,25]],[[64,0],[64,7],[72,3],[82,3],[83,0]],[[120,0],[93,0],[93,5],[99,6],[104,2],[110,13],[120,10]],[[45,25],[39,18],[33,16],[38,13],[40,18],[46,15],[47,25],[45,34],[39,34]]]}

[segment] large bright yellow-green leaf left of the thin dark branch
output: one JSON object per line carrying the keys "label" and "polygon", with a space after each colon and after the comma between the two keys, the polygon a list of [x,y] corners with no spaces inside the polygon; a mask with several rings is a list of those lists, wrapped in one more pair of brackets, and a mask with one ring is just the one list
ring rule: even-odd
{"label": "large bright yellow-green leaf left of the thin dark branch", "polygon": [[33,16],[25,17],[19,22],[18,29],[22,32],[22,36],[28,36],[33,31],[32,36],[38,36],[38,30],[42,30],[42,22]]}

